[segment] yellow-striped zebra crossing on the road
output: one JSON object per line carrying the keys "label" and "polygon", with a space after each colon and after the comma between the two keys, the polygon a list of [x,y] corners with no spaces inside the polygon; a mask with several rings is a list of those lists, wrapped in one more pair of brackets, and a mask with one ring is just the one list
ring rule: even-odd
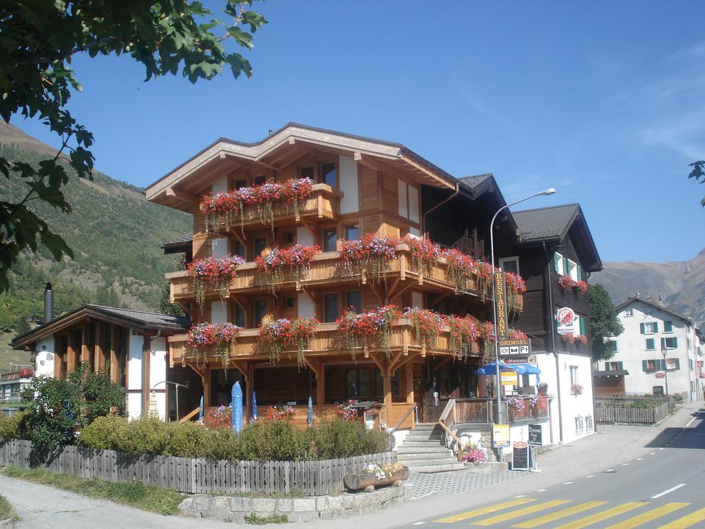
{"label": "yellow-striped zebra crossing on the road", "polygon": [[[572,504],[572,505],[568,505]],[[575,503],[570,499],[553,499],[551,501],[539,501],[537,498],[517,498],[510,501],[504,501],[499,504],[494,504],[479,509],[473,509],[464,513],[446,516],[435,520],[436,523],[455,523],[467,520],[470,525],[477,526],[492,526],[500,525],[506,522],[511,523],[517,518],[521,521],[515,523],[511,527],[517,529],[534,529],[541,528],[551,524],[553,529],[582,529],[601,522],[610,523],[611,518],[632,513],[634,516],[622,521],[613,523],[613,525],[600,525],[606,529],[632,529],[637,528],[645,523],[653,522],[670,515],[671,513],[682,514],[691,504],[672,502],[659,506],[651,506],[649,508],[648,501],[627,501],[623,504],[608,505],[609,501],[584,501]],[[556,507],[564,506],[562,509],[553,512],[541,514],[541,516],[532,517],[534,513],[541,511],[549,511]],[[603,509],[601,509],[603,508]],[[492,515],[486,517],[486,515]],[[571,516],[581,515],[579,518],[568,521],[563,525],[554,526],[553,522],[569,518]],[[699,509],[691,513],[686,513],[680,518],[661,525],[658,529],[688,529],[694,525],[705,521],[705,509]],[[466,526],[464,526],[466,527]],[[508,525],[503,525],[508,527]]]}

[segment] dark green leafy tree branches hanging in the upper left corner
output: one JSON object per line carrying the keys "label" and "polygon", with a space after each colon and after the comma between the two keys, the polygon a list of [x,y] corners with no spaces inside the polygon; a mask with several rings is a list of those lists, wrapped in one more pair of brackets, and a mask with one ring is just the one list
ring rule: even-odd
{"label": "dark green leafy tree branches hanging in the upper left corner", "polygon": [[145,67],[145,80],[181,71],[195,83],[226,67],[235,78],[249,77],[250,63],[226,44],[252,48],[252,33],[266,20],[250,11],[251,5],[252,0],[225,1],[227,18],[220,20],[199,1],[188,0],[0,4],[0,116],[6,122],[17,114],[38,117],[61,138],[56,156],[37,164],[0,157],[0,174],[25,183],[19,200],[0,200],[0,292],[8,288],[8,271],[25,249],[36,252],[41,244],[57,261],[73,257],[66,241],[28,207],[38,200],[70,213],[63,193],[68,167],[80,178],[92,178],[94,157],[88,148],[93,136],[66,110],[71,95],[81,90],[72,57],[130,54]]}

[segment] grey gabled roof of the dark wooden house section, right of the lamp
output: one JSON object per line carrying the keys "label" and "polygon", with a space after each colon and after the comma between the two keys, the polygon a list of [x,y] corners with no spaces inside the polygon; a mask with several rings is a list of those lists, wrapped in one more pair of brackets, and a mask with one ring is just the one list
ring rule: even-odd
{"label": "grey gabled roof of the dark wooden house section, right of the lamp", "polygon": [[513,212],[513,215],[520,229],[520,245],[558,245],[570,233],[583,269],[586,272],[599,272],[602,269],[600,255],[580,204],[525,209]]}

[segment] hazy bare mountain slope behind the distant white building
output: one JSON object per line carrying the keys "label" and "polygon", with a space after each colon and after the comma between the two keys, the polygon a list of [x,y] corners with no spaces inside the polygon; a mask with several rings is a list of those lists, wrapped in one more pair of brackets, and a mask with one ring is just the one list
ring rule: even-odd
{"label": "hazy bare mountain slope behind the distant white building", "polygon": [[661,296],[666,306],[692,317],[702,327],[705,320],[705,249],[683,262],[605,262],[604,270],[590,276],[601,283],[615,303],[639,292]]}

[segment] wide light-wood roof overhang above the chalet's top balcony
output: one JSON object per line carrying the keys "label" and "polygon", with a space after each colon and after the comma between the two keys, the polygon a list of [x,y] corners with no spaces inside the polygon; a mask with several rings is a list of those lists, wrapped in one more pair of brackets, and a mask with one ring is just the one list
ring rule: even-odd
{"label": "wide light-wood roof overhang above the chalet's top balcony", "polygon": [[446,171],[398,143],[288,123],[255,143],[220,138],[148,186],[145,195],[151,202],[192,212],[200,193],[223,174],[243,166],[281,171],[315,150],[354,157],[372,169],[395,171],[429,186],[455,189],[457,183]]}

